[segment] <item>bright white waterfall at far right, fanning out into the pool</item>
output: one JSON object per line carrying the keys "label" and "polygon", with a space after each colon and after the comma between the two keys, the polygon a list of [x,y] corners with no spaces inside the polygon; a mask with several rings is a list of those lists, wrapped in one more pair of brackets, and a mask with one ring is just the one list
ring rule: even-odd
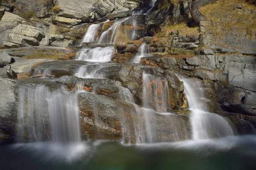
{"label": "bright white waterfall at far right, fanning out into the pool", "polygon": [[233,130],[228,122],[218,114],[204,109],[200,99],[204,99],[201,82],[197,79],[180,78],[184,83],[184,92],[191,109],[192,136],[194,140],[213,137],[232,136]]}

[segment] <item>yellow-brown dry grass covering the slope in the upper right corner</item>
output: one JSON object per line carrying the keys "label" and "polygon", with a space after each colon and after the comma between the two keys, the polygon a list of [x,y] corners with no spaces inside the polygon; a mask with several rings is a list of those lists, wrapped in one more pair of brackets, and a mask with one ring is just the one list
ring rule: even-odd
{"label": "yellow-brown dry grass covering the slope in the upper right corner", "polygon": [[[236,8],[240,4],[242,9]],[[247,38],[256,36],[256,6],[244,0],[218,0],[201,7],[200,11],[210,23],[207,32],[215,37],[228,34]]]}

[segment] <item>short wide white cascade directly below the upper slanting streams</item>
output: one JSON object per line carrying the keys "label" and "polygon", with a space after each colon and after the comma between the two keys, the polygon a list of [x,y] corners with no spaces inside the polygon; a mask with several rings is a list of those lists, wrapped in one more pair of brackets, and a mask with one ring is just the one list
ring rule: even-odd
{"label": "short wide white cascade directly below the upper slanting streams", "polygon": [[114,53],[113,47],[84,48],[77,52],[76,59],[88,62],[108,62]]}

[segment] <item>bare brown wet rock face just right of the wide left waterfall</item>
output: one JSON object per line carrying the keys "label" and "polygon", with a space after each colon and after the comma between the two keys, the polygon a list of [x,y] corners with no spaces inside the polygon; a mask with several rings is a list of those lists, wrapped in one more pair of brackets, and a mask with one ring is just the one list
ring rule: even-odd
{"label": "bare brown wet rock face just right of the wide left waterfall", "polygon": [[[114,100],[97,94],[81,93],[79,95],[81,110],[81,131],[84,139],[114,139],[122,138],[122,114],[135,112],[132,104]],[[120,112],[120,108],[124,113]]]}

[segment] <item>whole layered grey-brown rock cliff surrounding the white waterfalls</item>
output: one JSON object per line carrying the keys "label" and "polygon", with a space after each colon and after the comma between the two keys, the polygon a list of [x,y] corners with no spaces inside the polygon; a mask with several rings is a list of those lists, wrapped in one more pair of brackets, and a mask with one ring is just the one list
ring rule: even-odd
{"label": "whole layered grey-brown rock cliff surrounding the white waterfalls", "polygon": [[[41,77],[48,69],[51,78],[60,78],[57,85],[49,88],[64,85],[72,91],[83,80],[75,77],[79,68],[88,64],[73,59],[82,48],[108,46],[108,43],[98,43],[104,34],[107,42],[111,42],[112,34],[120,38],[119,41],[116,38],[114,44],[112,65],[93,64],[86,68],[87,72],[104,74],[105,79],[83,80],[83,88],[90,92],[79,95],[84,139],[119,140],[123,125],[128,122],[129,134],[126,133],[125,140],[136,142],[132,120],[145,125],[145,119],[139,118],[143,112],[134,106],[143,106],[143,72],[157,77],[159,82],[166,81],[169,87],[166,111],[175,113],[172,120],[150,115],[155,133],[159,133],[153,137],[154,141],[191,138],[189,113],[184,110],[186,95],[177,75],[200,80],[206,95],[204,105],[232,122],[236,133],[254,133],[256,6],[243,0],[202,0],[199,6],[205,20],[197,23],[191,17],[186,0],[157,0],[153,5],[150,0],[1,2],[0,139],[8,142],[16,139],[19,86],[38,85],[30,78]],[[115,28],[118,22],[121,24]],[[94,41],[81,43],[93,24],[99,24],[93,34]],[[141,53],[143,43],[151,57],[142,56],[140,65],[130,63]],[[123,101],[120,89],[131,93],[134,104]],[[97,116],[93,103],[98,105]],[[155,101],[149,101],[149,105],[157,111]],[[177,127],[177,138],[169,136],[169,121]]]}

